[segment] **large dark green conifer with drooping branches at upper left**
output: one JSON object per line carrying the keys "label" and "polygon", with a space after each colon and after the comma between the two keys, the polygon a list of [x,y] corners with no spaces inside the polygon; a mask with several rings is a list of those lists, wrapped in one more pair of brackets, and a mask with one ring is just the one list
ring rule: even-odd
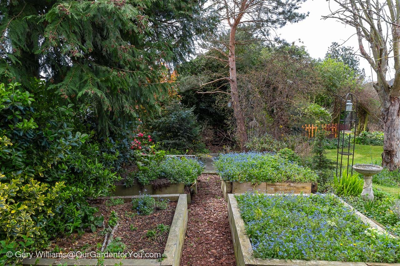
{"label": "large dark green conifer with drooping branches at upper left", "polygon": [[0,0],[0,79],[48,81],[101,133],[158,109],[166,66],[210,26],[205,0]]}

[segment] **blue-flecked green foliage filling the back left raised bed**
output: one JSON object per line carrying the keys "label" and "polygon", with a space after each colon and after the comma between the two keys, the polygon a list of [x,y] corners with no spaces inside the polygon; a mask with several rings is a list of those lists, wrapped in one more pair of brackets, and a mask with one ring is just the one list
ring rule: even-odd
{"label": "blue-flecked green foliage filling the back left raised bed", "polygon": [[166,157],[160,163],[152,162],[136,173],[138,182],[148,185],[151,181],[165,178],[171,183],[185,183],[186,186],[196,182],[203,172],[201,161],[187,157]]}

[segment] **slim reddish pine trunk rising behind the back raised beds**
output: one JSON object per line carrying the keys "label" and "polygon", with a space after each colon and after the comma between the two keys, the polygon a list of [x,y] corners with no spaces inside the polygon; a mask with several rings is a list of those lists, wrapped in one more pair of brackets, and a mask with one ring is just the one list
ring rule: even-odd
{"label": "slim reddish pine trunk rising behind the back raised beds", "polygon": [[240,149],[245,150],[244,145],[248,141],[246,128],[244,126],[244,116],[239,103],[238,79],[236,76],[235,59],[235,34],[236,26],[232,26],[229,35],[229,75],[230,75],[230,95],[232,97],[233,112],[236,119],[236,127],[240,142]]}

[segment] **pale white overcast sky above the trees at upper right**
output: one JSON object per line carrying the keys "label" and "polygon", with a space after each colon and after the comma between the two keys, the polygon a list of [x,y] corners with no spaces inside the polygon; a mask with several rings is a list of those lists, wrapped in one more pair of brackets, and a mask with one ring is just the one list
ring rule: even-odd
{"label": "pale white overcast sky above the trees at upper right", "polygon": [[[331,2],[331,8],[334,6]],[[307,0],[302,5],[300,12],[310,12],[309,16],[296,23],[288,24],[276,33],[286,39],[289,43],[295,42],[295,45],[306,46],[306,50],[313,58],[324,58],[328,47],[332,42],[338,44],[344,43],[344,46],[352,46],[354,51],[358,52],[358,41],[356,30],[351,26],[346,26],[335,19],[322,19],[322,16],[328,15],[329,3],[325,0]],[[349,39],[350,38],[350,39]],[[300,39],[300,42],[299,42]],[[349,40],[348,40],[349,39]],[[360,68],[365,69],[366,79],[371,77],[371,68],[367,60],[360,57]],[[374,81],[376,75],[374,73]]]}

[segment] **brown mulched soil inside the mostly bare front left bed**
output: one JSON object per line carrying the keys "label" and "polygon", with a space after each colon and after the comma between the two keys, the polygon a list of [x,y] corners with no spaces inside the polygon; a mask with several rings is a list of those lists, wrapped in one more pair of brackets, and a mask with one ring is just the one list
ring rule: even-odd
{"label": "brown mulched soil inside the mostly bare front left bed", "polygon": [[[101,214],[104,216],[104,224],[106,226],[111,211],[114,210],[118,213],[119,226],[114,234],[114,238],[120,237],[121,242],[126,244],[125,252],[138,252],[142,250],[143,252],[164,253],[169,232],[158,232],[155,238],[147,238],[146,232],[148,232],[148,230],[156,230],[158,224],[171,226],[176,202],[169,202],[169,206],[166,210],[156,210],[150,215],[136,214],[136,212],[132,210],[131,202],[126,202],[117,206],[106,206],[104,200],[102,200],[101,202],[93,204],[93,206],[99,208],[98,215]],[[131,224],[134,230],[130,229]],[[82,252],[100,251],[103,241],[104,234],[102,233],[102,228],[98,228],[94,233],[92,233],[92,231],[84,232],[82,236],[74,233],[70,236],[58,238],[51,245],[50,251],[54,250],[56,246],[63,252],[78,250]]]}

